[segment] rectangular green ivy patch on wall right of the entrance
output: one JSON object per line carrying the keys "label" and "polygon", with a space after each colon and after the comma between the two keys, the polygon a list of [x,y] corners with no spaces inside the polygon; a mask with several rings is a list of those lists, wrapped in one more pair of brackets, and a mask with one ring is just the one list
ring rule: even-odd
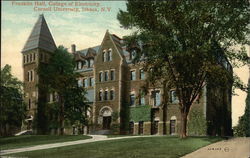
{"label": "rectangular green ivy patch on wall right of the entrance", "polygon": [[148,105],[130,107],[130,121],[150,121],[151,120],[151,108]]}

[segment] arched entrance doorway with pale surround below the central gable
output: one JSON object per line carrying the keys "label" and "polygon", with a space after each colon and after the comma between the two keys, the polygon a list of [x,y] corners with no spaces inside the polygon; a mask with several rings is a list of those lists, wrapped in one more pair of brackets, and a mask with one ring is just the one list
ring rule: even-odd
{"label": "arched entrance doorway with pale surround below the central gable", "polygon": [[108,106],[103,107],[99,113],[100,117],[102,118],[102,129],[109,130],[112,121],[112,109]]}

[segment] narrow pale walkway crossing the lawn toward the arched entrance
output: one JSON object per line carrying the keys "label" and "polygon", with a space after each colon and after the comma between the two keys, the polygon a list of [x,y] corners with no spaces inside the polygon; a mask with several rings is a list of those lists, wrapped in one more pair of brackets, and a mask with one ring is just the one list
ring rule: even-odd
{"label": "narrow pale walkway crossing the lawn toward the arched entrance", "polygon": [[53,143],[53,144],[44,144],[44,145],[36,145],[32,147],[24,147],[18,149],[8,149],[0,151],[0,155],[7,155],[7,154],[14,154],[20,152],[27,152],[27,151],[35,151],[35,150],[43,150],[43,149],[50,149],[50,148],[58,148],[63,146],[70,146],[70,145],[77,145],[77,144],[85,144],[85,143],[92,143],[97,141],[104,141],[104,140],[117,140],[117,139],[124,139],[124,138],[138,138],[138,137],[155,137],[152,135],[148,136],[124,136],[124,137],[114,137],[114,138],[107,138],[105,135],[89,135],[91,139],[84,139],[84,140],[77,140],[77,141],[70,141],[70,142],[62,142],[62,143]]}

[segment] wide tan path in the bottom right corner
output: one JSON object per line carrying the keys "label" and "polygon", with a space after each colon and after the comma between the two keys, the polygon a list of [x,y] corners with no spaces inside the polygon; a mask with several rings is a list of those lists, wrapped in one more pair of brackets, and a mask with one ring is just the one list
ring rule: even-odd
{"label": "wide tan path in the bottom right corner", "polygon": [[250,158],[250,138],[232,138],[200,148],[182,158]]}

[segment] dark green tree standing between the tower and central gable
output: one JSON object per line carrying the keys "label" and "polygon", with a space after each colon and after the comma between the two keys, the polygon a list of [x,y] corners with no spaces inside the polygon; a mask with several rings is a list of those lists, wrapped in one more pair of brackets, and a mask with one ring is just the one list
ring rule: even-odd
{"label": "dark green tree standing between the tower and central gable", "polygon": [[[50,113],[50,117],[54,118],[50,120],[59,124],[61,135],[64,134],[65,119],[70,121],[71,124],[76,123],[76,121],[86,122],[88,105],[84,97],[85,90],[83,87],[78,87],[77,78],[80,76],[74,72],[74,67],[73,56],[63,46],[59,46],[51,54],[48,64],[41,64],[38,68],[38,74],[42,80],[39,83],[40,89],[46,94],[57,96],[55,102],[46,105],[47,109],[40,108],[40,113]],[[49,117],[48,115],[47,117]],[[42,118],[42,116],[39,118]],[[41,120],[38,122],[41,122]]]}

